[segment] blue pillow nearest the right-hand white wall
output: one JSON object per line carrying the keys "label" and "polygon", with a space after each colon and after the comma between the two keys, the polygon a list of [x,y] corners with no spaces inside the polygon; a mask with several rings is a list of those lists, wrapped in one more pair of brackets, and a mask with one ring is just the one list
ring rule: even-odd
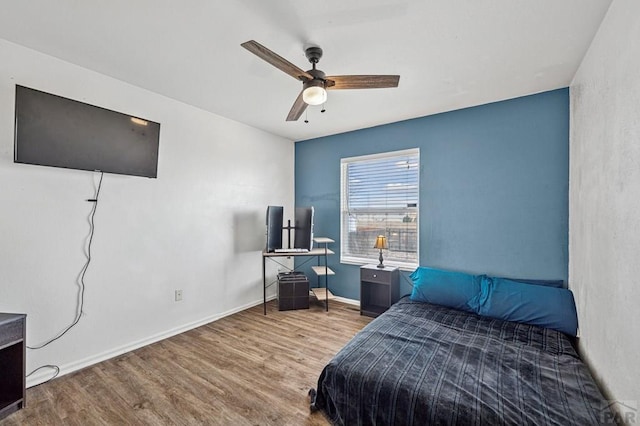
{"label": "blue pillow nearest the right-hand white wall", "polygon": [[484,276],[477,305],[480,315],[552,328],[571,336],[578,332],[573,293],[566,288]]}

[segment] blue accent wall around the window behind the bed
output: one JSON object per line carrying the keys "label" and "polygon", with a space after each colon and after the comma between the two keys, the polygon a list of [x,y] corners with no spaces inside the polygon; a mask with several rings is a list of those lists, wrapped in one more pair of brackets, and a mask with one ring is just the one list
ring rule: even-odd
{"label": "blue accent wall around the window behind the bed", "polygon": [[297,142],[295,202],[315,207],[316,236],[336,240],[334,294],[360,298],[359,267],[340,264],[340,159],[408,148],[420,148],[421,265],[566,282],[569,90],[559,89]]}

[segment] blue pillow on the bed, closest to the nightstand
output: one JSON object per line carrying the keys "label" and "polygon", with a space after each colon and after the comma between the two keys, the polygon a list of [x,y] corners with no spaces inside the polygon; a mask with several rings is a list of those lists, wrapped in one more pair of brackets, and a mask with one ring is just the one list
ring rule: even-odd
{"label": "blue pillow on the bed, closest to the nightstand", "polygon": [[480,275],[418,267],[410,275],[413,290],[410,299],[476,313],[480,293]]}

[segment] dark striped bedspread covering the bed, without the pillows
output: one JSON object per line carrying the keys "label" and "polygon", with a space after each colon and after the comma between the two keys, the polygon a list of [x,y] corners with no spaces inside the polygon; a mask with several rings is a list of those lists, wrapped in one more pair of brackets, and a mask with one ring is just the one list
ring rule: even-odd
{"label": "dark striped bedspread covering the bed, without the pillows", "polygon": [[402,298],[323,369],[332,424],[593,425],[606,402],[570,338]]}

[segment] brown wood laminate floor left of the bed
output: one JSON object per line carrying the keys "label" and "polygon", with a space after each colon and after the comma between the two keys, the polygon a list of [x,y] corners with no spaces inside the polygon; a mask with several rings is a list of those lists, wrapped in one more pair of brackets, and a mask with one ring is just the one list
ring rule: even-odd
{"label": "brown wood laminate floor left of the bed", "polygon": [[27,390],[5,425],[326,425],[307,392],[370,318],[330,302],[275,302]]}

